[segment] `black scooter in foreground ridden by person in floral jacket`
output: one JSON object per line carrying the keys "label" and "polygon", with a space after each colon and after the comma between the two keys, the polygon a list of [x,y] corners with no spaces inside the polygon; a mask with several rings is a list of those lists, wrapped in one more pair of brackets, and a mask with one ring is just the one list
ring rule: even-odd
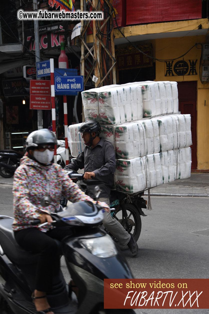
{"label": "black scooter in foreground ridden by person in floral jacket", "polygon": [[[42,206],[50,204],[43,197]],[[104,309],[104,278],[133,278],[126,260],[114,241],[99,226],[102,208],[89,201],[68,205],[51,214],[54,226],[69,226],[72,235],[57,241],[60,255],[75,285],[78,298],[69,292],[62,272],[53,278],[53,288],[47,300],[55,314],[133,314],[132,309]],[[14,239],[13,218],[0,216],[0,284],[1,314],[35,314],[31,294],[35,289],[37,254],[25,251]],[[33,220],[31,224],[40,224]],[[46,223],[44,223],[46,224]]]}

